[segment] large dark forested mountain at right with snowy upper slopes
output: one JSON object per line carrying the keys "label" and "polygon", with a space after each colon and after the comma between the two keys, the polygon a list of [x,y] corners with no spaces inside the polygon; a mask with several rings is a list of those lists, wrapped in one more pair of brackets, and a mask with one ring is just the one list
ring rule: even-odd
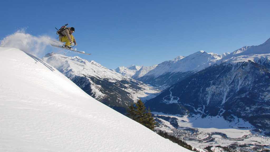
{"label": "large dark forested mountain at right with snowy upper slopes", "polygon": [[270,39],[243,47],[177,82],[145,104],[152,111],[233,115],[270,131]]}

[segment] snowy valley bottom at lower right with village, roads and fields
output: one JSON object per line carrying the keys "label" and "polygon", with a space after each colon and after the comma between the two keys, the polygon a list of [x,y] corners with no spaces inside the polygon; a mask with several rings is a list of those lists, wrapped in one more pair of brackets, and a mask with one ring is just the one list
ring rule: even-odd
{"label": "snowy valley bottom at lower right with village, roads and fields", "polygon": [[237,151],[262,151],[270,148],[270,138],[241,118],[235,117],[235,121],[228,122],[222,117],[202,119],[199,115],[154,114],[156,130],[182,139],[198,151],[207,151],[205,147],[211,147],[213,151],[221,147],[231,147]]}

